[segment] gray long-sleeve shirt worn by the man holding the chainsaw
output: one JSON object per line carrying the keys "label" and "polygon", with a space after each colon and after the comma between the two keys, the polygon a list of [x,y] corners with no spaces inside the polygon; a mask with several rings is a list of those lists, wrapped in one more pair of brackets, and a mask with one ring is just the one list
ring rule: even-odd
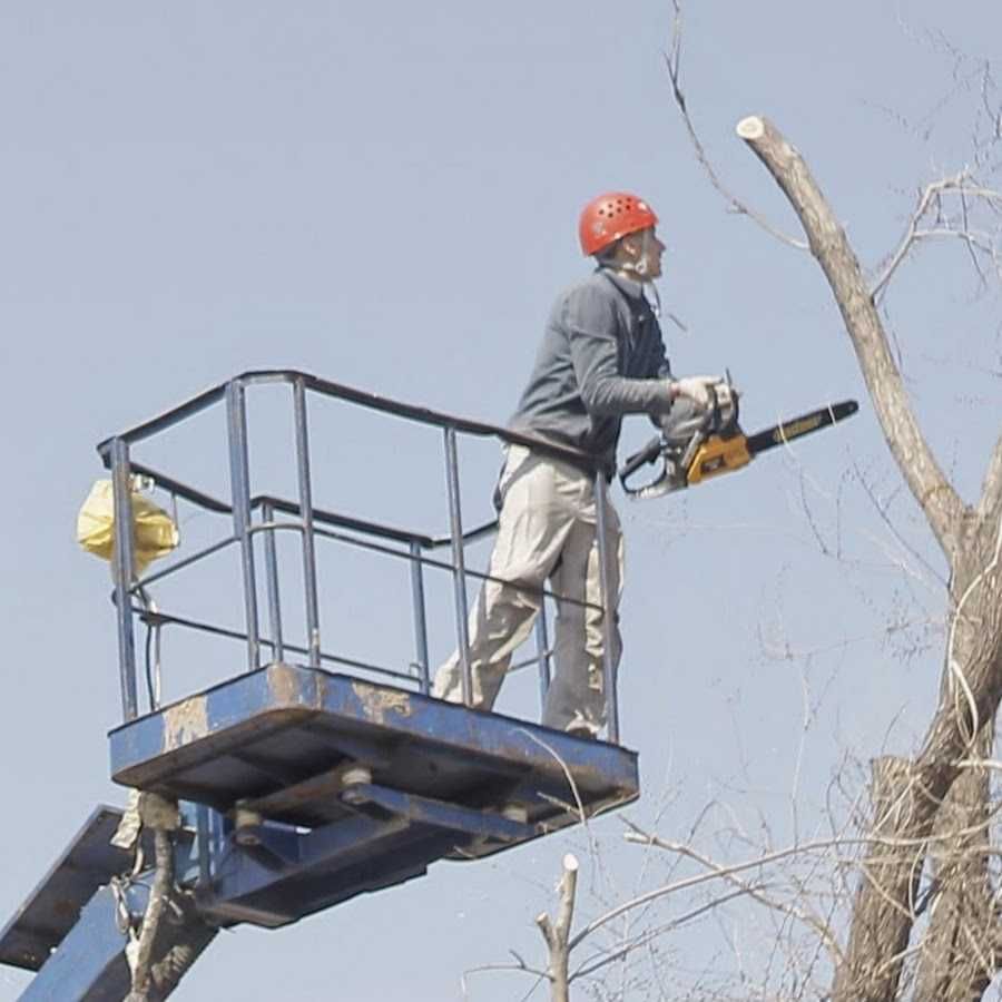
{"label": "gray long-sleeve shirt worn by the man holding the chainsaw", "polygon": [[562,293],[509,426],[591,453],[610,474],[625,414],[666,414],[671,375],[638,282],[597,269]]}

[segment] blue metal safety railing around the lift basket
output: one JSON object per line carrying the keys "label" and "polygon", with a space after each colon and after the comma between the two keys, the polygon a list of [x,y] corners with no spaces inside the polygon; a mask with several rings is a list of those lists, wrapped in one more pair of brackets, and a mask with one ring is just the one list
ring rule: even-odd
{"label": "blue metal safety railing around the lift basket", "polygon": [[[250,468],[247,425],[247,391],[261,384],[287,384],[292,389],[293,419],[295,429],[295,459],[297,498],[288,500],[271,494],[252,497]],[[392,414],[421,425],[436,428],[443,435],[443,460],[446,495],[449,499],[449,534],[435,537],[426,533],[381,524],[316,508],[313,500],[313,475],[311,470],[310,422],[307,416],[308,394],[344,401],[371,411]],[[228,500],[220,500],[205,491],[195,489],[179,480],[161,473],[150,466],[140,464],[132,455],[134,446],[153,439],[167,429],[174,428],[196,414],[222,403],[226,411],[226,440],[229,462]],[[452,577],[454,595],[455,639],[459,651],[462,696],[466,705],[471,704],[472,677],[470,664],[470,644],[468,633],[469,607],[466,598],[466,580],[498,580],[485,572],[466,567],[465,547],[490,533],[495,522],[480,525],[472,531],[463,528],[462,504],[460,494],[460,469],[458,436],[491,436],[508,443],[525,445],[539,452],[567,460],[579,466],[592,468],[591,459],[577,450],[561,448],[532,435],[520,434],[508,429],[498,428],[483,422],[455,418],[425,407],[414,406],[401,401],[377,396],[337,383],[318,379],[307,373],[292,370],[274,370],[243,373],[226,383],[214,386],[191,397],[177,407],[137,425],[98,445],[98,452],[107,468],[111,471],[115,495],[115,554],[112,573],[115,579],[115,603],[118,625],[119,674],[121,686],[122,717],[125,721],[139,715],[138,675],[136,657],[135,625],[137,617],[147,625],[157,628],[175,625],[222,637],[228,637],[246,644],[247,670],[262,667],[262,648],[267,648],[273,660],[283,660],[289,654],[305,656],[311,667],[320,668],[324,662],[341,665],[346,668],[364,669],[389,676],[397,681],[418,685],[420,691],[428,694],[431,688],[429,662],[428,610],[425,602],[424,570],[435,568],[449,571]],[[198,552],[175,559],[163,570],[137,578],[134,573],[134,534],[131,511],[132,475],[141,474],[150,479],[158,488],[170,493],[175,499],[185,501],[205,511],[216,512],[232,519],[232,532]],[[522,664],[533,661],[539,665],[540,694],[544,699],[550,684],[549,629],[547,622],[547,602],[551,599],[558,603],[572,602],[590,606],[603,612],[609,596],[609,568],[607,553],[606,524],[607,481],[600,471],[595,471],[595,493],[597,509],[597,541],[600,566],[600,600],[592,605],[557,595],[547,588],[541,589],[540,612],[536,622],[536,657]],[[277,519],[277,515],[285,517]],[[257,520],[255,521],[255,515]],[[303,563],[303,610],[306,627],[306,644],[297,646],[284,638],[281,582],[276,554],[275,537],[277,532],[296,532],[302,543]],[[258,566],[254,540],[263,536],[263,568]],[[318,540],[333,540],[351,547],[383,553],[410,563],[410,584],[414,623],[414,666],[416,677],[409,672],[371,665],[358,659],[348,658],[321,646],[320,599],[317,580],[316,544]],[[228,547],[238,547],[242,570],[242,595],[244,607],[244,629],[235,630],[210,622],[174,616],[169,612],[151,611],[144,605],[146,589],[165,578],[189,568],[207,557]],[[431,556],[440,549],[448,549],[451,560],[440,560]],[[265,578],[265,597],[267,605],[268,632],[263,635],[261,610],[258,608],[258,573],[263,570]],[[502,582],[512,584],[512,582]],[[139,605],[136,605],[136,602]],[[619,714],[616,694],[616,666],[612,656],[612,617],[602,615],[603,629],[603,691],[606,695],[607,727],[610,741],[619,739]],[[515,666],[521,667],[521,666]],[[153,703],[153,691],[150,690]],[[153,708],[153,707],[151,707]]]}

